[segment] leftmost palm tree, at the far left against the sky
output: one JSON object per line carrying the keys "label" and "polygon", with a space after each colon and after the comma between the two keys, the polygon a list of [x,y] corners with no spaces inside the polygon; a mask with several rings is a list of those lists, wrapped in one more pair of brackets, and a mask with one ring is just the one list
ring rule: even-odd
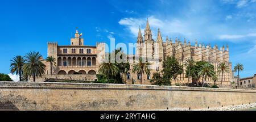
{"label": "leftmost palm tree, at the far left against the sky", "polygon": [[24,63],[25,60],[22,56],[16,56],[11,60],[11,73],[19,74],[19,81],[22,81],[22,66]]}

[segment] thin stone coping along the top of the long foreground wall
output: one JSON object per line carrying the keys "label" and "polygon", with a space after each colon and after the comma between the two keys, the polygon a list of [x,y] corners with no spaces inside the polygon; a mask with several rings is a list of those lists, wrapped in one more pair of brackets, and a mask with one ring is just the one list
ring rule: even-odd
{"label": "thin stone coping along the top of the long foreground wall", "polygon": [[169,91],[212,91],[253,92],[256,90],[214,89],[205,87],[125,85],[102,83],[59,83],[59,82],[0,82],[0,89],[126,89],[126,90],[169,90]]}

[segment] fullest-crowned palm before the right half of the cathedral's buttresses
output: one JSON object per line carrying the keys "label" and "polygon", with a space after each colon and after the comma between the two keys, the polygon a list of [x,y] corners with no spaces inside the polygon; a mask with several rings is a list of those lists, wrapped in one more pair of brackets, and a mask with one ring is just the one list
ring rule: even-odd
{"label": "fullest-crowned palm before the right half of the cathedral's buttresses", "polygon": [[[199,71],[199,75],[202,77],[202,87],[204,87],[204,82],[206,80],[207,77],[213,77],[214,75],[214,66],[209,64],[209,63],[205,63],[201,70]],[[205,80],[204,80],[205,79]]]}

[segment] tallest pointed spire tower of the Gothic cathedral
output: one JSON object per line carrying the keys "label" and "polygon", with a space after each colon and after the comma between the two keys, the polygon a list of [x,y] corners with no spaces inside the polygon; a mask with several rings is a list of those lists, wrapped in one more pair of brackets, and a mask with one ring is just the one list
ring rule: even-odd
{"label": "tallest pointed spire tower of the Gothic cathedral", "polygon": [[147,19],[146,28],[144,30],[143,54],[146,54],[147,57],[152,57],[153,53],[154,53],[154,40],[152,40],[152,33],[151,33],[150,25]]}

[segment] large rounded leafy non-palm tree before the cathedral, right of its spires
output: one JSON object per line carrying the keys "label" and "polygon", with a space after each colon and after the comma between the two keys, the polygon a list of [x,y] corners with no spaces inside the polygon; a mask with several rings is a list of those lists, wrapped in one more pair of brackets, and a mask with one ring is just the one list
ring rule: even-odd
{"label": "large rounded leafy non-palm tree before the cathedral, right of its spires", "polygon": [[[163,61],[163,81],[170,81],[174,79],[176,83],[176,78],[178,75],[183,73],[183,66],[179,64],[175,57],[167,57]],[[171,84],[171,82],[170,82]]]}

